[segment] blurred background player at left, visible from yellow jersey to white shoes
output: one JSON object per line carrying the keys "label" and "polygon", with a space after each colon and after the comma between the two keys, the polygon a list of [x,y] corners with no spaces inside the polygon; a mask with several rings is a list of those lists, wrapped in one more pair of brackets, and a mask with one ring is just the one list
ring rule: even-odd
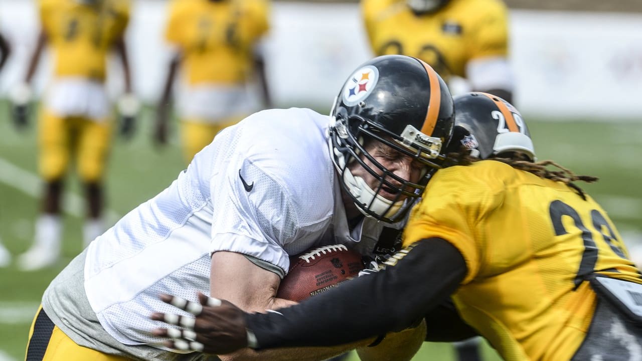
{"label": "blurred background player at left, visible from yellow jersey to white shoes", "polygon": [[36,222],[33,245],[18,259],[22,270],[48,267],[60,255],[61,198],[71,157],[87,199],[84,245],[105,230],[101,180],[113,123],[105,89],[107,58],[112,49],[121,59],[125,78],[125,93],[118,104],[123,135],[131,134],[137,112],[124,39],[130,17],[127,0],[40,0],[39,15],[42,29],[24,83],[12,92],[15,121],[25,125],[31,80],[42,51],[49,45],[53,79],[39,116],[39,169],[45,181],[42,214]]}

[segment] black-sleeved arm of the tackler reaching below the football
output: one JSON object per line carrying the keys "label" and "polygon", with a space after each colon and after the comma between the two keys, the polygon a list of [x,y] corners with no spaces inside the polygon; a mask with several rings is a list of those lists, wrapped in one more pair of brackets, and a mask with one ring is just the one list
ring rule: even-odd
{"label": "black-sleeved arm of the tackler reaching below the football", "polygon": [[[396,265],[342,283],[281,313],[247,315],[258,348],[329,346],[401,331],[456,290],[464,258],[444,240],[422,240]],[[309,327],[309,325],[314,327]]]}

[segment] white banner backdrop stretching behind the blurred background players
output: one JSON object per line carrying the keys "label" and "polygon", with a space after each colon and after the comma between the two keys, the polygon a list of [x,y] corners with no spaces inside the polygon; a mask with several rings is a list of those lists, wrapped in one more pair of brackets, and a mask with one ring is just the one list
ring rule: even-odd
{"label": "white banner backdrop stretching behind the blurred background players", "polygon": [[[134,87],[155,103],[169,48],[162,39],[167,2],[134,1],[128,29]],[[34,1],[0,1],[0,30],[13,55],[0,74],[6,93],[22,78],[39,25]],[[511,66],[516,103],[525,114],[551,117],[642,116],[642,15],[511,12]],[[268,80],[277,105],[329,107],[345,76],[370,56],[356,4],[274,3],[266,42]],[[112,66],[110,89],[121,89]],[[47,59],[37,76],[49,77]]]}

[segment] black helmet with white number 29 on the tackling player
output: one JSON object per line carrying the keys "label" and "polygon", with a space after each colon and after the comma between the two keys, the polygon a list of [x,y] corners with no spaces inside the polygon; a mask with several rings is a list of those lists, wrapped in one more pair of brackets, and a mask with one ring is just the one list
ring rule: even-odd
{"label": "black helmet with white number 29 on the tackling player", "polygon": [[535,161],[535,148],[526,122],[508,101],[485,92],[455,96],[455,130],[448,152],[461,147],[473,157],[488,159],[505,152],[522,152]]}

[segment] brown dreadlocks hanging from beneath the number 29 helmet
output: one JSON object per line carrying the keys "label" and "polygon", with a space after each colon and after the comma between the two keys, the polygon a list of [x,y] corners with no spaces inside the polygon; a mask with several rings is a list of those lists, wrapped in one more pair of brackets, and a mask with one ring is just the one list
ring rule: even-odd
{"label": "brown dreadlocks hanging from beneath the number 29 helmet", "polygon": [[[586,200],[586,193],[582,188],[578,187],[577,184],[573,183],[578,180],[587,183],[593,183],[598,180],[598,177],[593,177],[591,175],[577,175],[568,168],[564,168],[554,161],[539,161],[532,162],[526,154],[522,152],[505,152],[495,157],[490,158],[494,161],[508,164],[515,169],[523,170],[525,172],[533,173],[542,179],[550,179],[554,182],[562,182],[574,189],[577,194]],[[445,166],[467,166],[469,164],[481,161],[482,159],[473,157],[470,155],[470,152],[453,152],[449,153],[446,157]],[[558,170],[550,170],[546,168],[547,166],[557,167]]]}

